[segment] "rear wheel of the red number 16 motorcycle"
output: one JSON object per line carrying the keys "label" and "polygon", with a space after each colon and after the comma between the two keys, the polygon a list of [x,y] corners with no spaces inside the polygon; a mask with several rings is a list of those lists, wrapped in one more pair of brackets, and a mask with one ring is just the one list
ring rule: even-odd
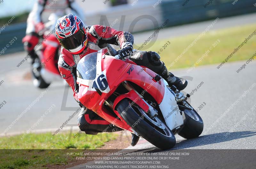
{"label": "rear wheel of the red number 16 motorcycle", "polygon": [[186,139],[196,138],[203,132],[204,122],[196,110],[193,109],[193,107],[187,101],[184,101],[181,104],[188,109],[180,107],[180,109],[184,111],[186,120],[184,121],[184,126],[178,134]]}

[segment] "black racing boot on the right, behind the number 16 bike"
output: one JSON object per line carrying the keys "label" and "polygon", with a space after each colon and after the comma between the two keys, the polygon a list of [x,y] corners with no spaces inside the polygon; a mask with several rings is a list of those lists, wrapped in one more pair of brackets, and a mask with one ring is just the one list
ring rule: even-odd
{"label": "black racing boot on the right, behind the number 16 bike", "polygon": [[[164,65],[164,63],[163,63],[163,65]],[[169,84],[170,87],[173,85],[178,90],[183,90],[188,85],[187,80],[185,80],[183,78],[180,78],[180,77],[177,77],[177,76],[174,76],[171,72],[169,72],[167,70],[167,68],[165,66],[162,68],[161,71],[158,72],[158,74],[160,76],[162,76],[164,78],[164,80],[167,81],[167,83]]]}

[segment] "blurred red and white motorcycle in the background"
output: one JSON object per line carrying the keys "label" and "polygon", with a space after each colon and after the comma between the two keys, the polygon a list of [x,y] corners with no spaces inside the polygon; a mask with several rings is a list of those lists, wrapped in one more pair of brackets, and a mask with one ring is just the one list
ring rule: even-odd
{"label": "blurred red and white motorcycle in the background", "polygon": [[31,67],[33,84],[38,88],[47,88],[52,81],[62,80],[58,69],[61,46],[54,31],[59,18],[60,14],[52,13],[49,22],[45,23],[44,29],[39,32],[41,45],[36,50],[38,57]]}

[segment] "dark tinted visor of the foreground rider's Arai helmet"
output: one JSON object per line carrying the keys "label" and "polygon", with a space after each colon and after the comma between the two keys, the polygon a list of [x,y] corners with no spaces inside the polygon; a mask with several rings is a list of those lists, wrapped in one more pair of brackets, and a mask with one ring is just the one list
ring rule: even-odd
{"label": "dark tinted visor of the foreground rider's Arai helmet", "polygon": [[86,35],[84,33],[83,26],[80,26],[80,29],[78,32],[76,32],[74,35],[71,35],[64,39],[59,39],[61,46],[63,46],[65,49],[75,49],[78,46],[82,45],[84,41],[86,40]]}

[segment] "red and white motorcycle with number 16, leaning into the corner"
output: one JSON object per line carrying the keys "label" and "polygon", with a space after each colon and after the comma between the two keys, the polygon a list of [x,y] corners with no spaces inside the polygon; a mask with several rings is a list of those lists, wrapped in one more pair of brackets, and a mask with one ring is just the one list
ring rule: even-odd
{"label": "red and white motorcycle with number 16, leaning into the corner", "polygon": [[186,101],[189,95],[150,69],[107,52],[88,54],[77,65],[79,100],[86,108],[161,149],[176,144],[174,134],[195,138],[202,133],[203,120]]}

